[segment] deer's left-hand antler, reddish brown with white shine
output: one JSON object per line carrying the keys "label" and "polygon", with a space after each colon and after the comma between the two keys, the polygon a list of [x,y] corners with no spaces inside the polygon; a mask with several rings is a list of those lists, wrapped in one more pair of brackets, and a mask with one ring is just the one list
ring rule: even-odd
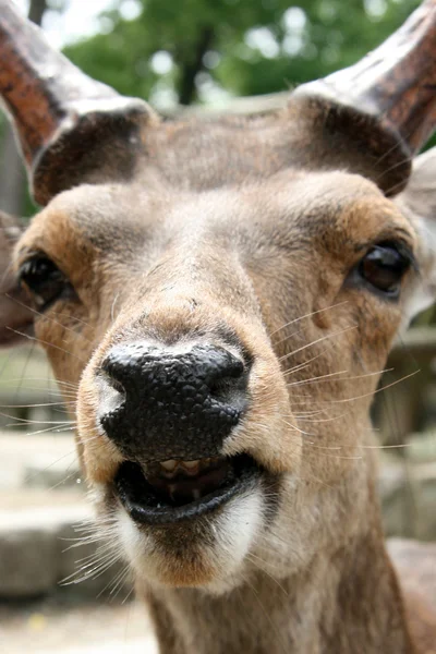
{"label": "deer's left-hand antler, reddish brown with white shine", "polygon": [[38,203],[102,171],[108,178],[114,165],[118,178],[129,177],[140,147],[133,133],[152,116],[146,102],[82,73],[10,0],[0,0],[0,93]]}

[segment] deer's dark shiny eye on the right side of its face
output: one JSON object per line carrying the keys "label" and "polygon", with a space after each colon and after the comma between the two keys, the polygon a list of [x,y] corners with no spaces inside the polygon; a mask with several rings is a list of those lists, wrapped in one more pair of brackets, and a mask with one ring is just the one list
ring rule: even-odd
{"label": "deer's dark shiny eye on the right side of its face", "polygon": [[412,255],[401,244],[384,243],[372,247],[359,265],[359,275],[389,298],[398,298],[401,279],[412,263]]}

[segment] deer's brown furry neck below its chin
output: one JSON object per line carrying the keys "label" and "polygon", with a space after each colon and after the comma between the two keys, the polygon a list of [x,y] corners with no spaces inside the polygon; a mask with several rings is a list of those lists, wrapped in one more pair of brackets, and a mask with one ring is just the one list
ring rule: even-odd
{"label": "deer's brown furry neck below its chin", "polygon": [[161,654],[412,654],[378,510],[367,508],[361,533],[284,579],[257,571],[220,596],[196,589],[142,592]]}

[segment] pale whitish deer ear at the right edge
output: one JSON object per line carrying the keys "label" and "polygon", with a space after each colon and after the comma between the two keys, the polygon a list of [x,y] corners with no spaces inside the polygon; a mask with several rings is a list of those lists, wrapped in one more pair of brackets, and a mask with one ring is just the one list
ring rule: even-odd
{"label": "pale whitish deer ear at the right edge", "polygon": [[408,320],[436,301],[436,147],[413,160],[404,191],[393,199],[419,234],[420,274],[409,291]]}

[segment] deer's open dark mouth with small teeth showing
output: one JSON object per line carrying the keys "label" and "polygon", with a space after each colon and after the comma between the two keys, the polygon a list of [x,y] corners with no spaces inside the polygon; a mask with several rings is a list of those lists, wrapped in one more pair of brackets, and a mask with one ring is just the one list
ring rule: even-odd
{"label": "deer's open dark mouth with small teeth showing", "polygon": [[262,473],[247,455],[181,461],[171,475],[162,463],[124,461],[117,472],[113,492],[135,522],[166,525],[210,513],[253,486]]}

